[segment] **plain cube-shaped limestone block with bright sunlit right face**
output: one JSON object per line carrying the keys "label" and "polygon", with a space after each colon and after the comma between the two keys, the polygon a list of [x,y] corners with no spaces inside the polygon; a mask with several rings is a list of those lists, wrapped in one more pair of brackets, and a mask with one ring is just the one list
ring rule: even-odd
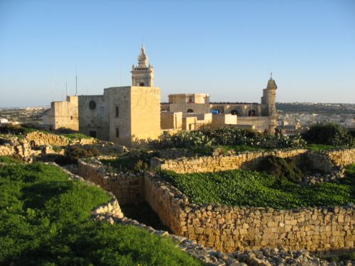
{"label": "plain cube-shaped limestone block with bright sunlit right face", "polygon": [[160,135],[160,89],[112,87],[105,89],[109,103],[109,140],[135,147]]}

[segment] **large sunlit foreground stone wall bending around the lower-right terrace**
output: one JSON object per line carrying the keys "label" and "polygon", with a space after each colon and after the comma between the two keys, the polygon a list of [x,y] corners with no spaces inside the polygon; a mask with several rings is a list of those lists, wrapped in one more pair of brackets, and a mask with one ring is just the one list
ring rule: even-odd
{"label": "large sunlit foreground stone wall bending around the lower-right terrace", "polygon": [[274,210],[201,206],[170,184],[146,177],[148,204],[173,233],[231,252],[264,247],[309,251],[351,250],[355,243],[354,206]]}

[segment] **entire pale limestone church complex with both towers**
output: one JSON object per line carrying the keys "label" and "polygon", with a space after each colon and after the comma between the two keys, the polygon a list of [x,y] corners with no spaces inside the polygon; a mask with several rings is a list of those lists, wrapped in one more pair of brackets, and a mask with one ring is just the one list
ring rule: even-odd
{"label": "entire pale limestone church complex with both towers", "polygon": [[101,140],[134,147],[155,139],[162,131],[174,133],[200,126],[236,126],[273,132],[277,113],[277,86],[271,78],[261,104],[213,103],[208,94],[170,94],[160,104],[154,87],[154,69],[142,45],[138,65],[133,65],[132,86],[109,87],[102,95],[67,96],[53,101],[43,113],[43,125],[70,128]]}

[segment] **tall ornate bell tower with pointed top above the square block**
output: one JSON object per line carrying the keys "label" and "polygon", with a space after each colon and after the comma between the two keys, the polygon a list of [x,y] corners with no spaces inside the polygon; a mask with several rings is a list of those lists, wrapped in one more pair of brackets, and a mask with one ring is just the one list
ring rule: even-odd
{"label": "tall ornate bell tower with pointed top above the square block", "polygon": [[138,65],[132,65],[132,86],[135,87],[154,87],[153,65],[148,64],[146,48],[141,47],[141,54],[138,55]]}

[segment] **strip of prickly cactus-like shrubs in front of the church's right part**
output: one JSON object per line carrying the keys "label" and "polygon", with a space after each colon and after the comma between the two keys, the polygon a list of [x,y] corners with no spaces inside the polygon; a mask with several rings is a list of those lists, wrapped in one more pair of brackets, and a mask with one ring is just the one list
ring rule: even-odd
{"label": "strip of prickly cactus-like shrubs in front of the church's right part", "polygon": [[300,135],[283,136],[280,134],[258,133],[240,128],[201,128],[197,131],[180,131],[175,135],[163,133],[158,140],[151,140],[153,149],[195,148],[217,145],[250,148],[300,148],[305,141]]}

